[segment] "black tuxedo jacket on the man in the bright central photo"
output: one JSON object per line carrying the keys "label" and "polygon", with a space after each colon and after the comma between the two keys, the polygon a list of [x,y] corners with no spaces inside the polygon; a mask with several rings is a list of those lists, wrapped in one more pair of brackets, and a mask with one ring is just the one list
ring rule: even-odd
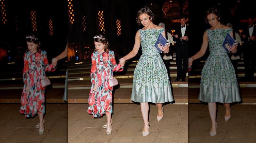
{"label": "black tuxedo jacket on the man in the bright central photo", "polygon": [[[176,41],[176,47],[185,48],[188,47],[188,40],[181,40],[182,34],[181,34],[181,25],[175,28],[174,35],[177,34],[178,38],[175,38],[173,36],[173,40]],[[186,25],[186,30],[184,36],[188,36],[188,25]],[[189,36],[188,36],[189,37]]]}

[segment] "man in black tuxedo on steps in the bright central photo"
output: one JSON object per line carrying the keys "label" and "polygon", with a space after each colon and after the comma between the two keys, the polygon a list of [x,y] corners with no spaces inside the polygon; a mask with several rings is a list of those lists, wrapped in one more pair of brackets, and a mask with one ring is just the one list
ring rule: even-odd
{"label": "man in black tuxedo on steps in the bright central photo", "polygon": [[176,41],[176,81],[181,79],[184,82],[188,70],[188,25],[186,25],[186,15],[180,16],[180,22],[181,25],[175,28],[173,40]]}

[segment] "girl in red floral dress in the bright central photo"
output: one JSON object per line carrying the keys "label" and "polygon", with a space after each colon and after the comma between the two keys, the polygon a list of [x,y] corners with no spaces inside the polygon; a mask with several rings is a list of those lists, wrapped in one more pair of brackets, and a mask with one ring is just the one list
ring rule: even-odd
{"label": "girl in red floral dress in the bright central photo", "polygon": [[103,35],[94,37],[95,49],[91,56],[92,87],[89,95],[88,113],[93,117],[101,117],[106,114],[107,123],[103,128],[107,128],[107,135],[112,133],[113,123],[111,119],[112,111],[112,90],[108,80],[113,78],[113,71],[123,71],[124,62],[120,61],[117,65],[115,54],[109,49],[109,42]]}

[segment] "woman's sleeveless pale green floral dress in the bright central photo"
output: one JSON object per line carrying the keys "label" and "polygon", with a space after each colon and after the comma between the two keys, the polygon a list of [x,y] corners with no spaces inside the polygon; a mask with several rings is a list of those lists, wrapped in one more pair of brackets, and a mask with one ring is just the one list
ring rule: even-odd
{"label": "woman's sleeveless pale green floral dress in the bright central photo", "polygon": [[142,55],[134,70],[131,100],[139,103],[172,102],[168,73],[155,43],[160,29],[139,29]]}

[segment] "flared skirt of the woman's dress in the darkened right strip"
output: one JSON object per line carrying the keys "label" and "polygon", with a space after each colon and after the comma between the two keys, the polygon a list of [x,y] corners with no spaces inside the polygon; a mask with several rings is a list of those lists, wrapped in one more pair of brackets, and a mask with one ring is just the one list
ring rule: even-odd
{"label": "flared skirt of the woman's dress in the darkened right strip", "polygon": [[210,54],[203,66],[199,98],[202,102],[240,102],[234,67],[227,56]]}

